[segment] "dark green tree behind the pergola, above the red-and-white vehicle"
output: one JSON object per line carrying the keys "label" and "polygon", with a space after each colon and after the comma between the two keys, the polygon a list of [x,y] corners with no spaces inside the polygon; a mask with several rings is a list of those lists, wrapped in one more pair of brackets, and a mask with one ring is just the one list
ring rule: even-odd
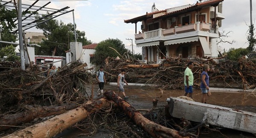
{"label": "dark green tree behind the pergola, above the red-and-white vehicle", "polygon": [[[47,15],[42,15],[46,17]],[[49,19],[51,16],[46,17],[44,20]],[[36,19],[41,17],[36,16]],[[42,22],[44,20],[39,20]],[[62,21],[49,20],[45,23],[41,23],[36,27],[42,29],[47,40],[43,40],[40,48],[35,48],[35,54],[37,55],[54,55],[54,56],[66,56],[65,51],[70,49],[70,42],[75,41],[74,26],[72,23],[64,24]],[[76,30],[77,41],[84,45],[91,44],[90,40],[85,37],[84,31]]]}

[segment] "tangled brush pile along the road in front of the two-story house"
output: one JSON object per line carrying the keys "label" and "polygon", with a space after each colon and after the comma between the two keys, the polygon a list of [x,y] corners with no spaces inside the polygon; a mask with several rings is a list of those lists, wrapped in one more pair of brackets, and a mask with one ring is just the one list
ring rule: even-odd
{"label": "tangled brush pile along the road in front of the two-story house", "polygon": [[194,86],[200,86],[200,74],[204,64],[211,70],[210,86],[222,88],[254,89],[256,86],[255,59],[240,58],[230,61],[221,58],[166,58],[160,64],[145,64],[140,60],[109,58],[105,65],[106,78],[116,82],[120,69],[126,69],[125,79],[130,83],[155,84],[162,89],[183,89],[184,71],[189,61],[194,63]]}

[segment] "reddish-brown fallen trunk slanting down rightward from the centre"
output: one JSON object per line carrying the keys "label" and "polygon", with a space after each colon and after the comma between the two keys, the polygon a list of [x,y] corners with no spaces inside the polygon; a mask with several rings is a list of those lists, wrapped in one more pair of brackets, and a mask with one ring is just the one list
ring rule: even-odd
{"label": "reddish-brown fallen trunk slanting down rightward from the centre", "polygon": [[156,124],[147,118],[144,118],[134,107],[117,96],[113,91],[107,91],[104,95],[114,101],[117,106],[121,107],[128,117],[130,117],[137,126],[140,126],[145,132],[148,132],[154,138],[189,138],[189,136],[181,136],[177,130],[170,129]]}

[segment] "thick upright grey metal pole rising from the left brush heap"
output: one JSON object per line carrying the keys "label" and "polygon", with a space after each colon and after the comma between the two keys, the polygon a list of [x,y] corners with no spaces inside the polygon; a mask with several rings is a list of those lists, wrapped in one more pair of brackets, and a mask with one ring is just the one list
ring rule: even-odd
{"label": "thick upright grey metal pole rising from the left brush heap", "polygon": [[19,45],[20,45],[20,64],[21,69],[25,70],[25,58],[24,58],[24,47],[23,47],[23,34],[22,34],[22,9],[21,0],[18,0],[18,31],[19,31]]}

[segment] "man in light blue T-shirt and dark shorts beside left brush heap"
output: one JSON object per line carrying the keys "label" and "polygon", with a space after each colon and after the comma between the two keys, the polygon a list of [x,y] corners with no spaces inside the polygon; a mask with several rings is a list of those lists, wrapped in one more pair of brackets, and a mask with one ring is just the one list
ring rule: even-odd
{"label": "man in light blue T-shirt and dark shorts beside left brush heap", "polygon": [[103,71],[103,66],[99,67],[99,70],[96,72],[96,80],[98,80],[99,83],[99,89],[97,91],[98,96],[103,94],[103,88],[104,88],[104,83],[106,82],[106,78],[104,75]]}

